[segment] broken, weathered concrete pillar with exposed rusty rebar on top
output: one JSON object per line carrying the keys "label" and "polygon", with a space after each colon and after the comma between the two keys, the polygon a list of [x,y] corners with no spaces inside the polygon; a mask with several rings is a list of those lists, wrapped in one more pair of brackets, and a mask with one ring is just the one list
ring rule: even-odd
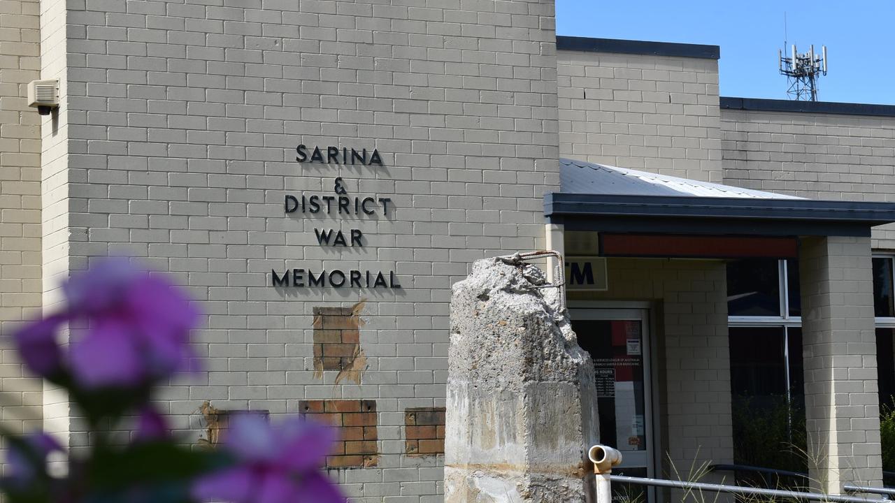
{"label": "broken, weathered concrete pillar with exposed rusty rebar on top", "polygon": [[445,501],[590,501],[590,356],[540,269],[486,259],[454,286]]}

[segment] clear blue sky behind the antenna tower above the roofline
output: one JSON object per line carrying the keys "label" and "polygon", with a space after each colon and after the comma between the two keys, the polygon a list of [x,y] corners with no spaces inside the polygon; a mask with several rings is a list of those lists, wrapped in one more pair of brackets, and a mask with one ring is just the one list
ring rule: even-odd
{"label": "clear blue sky behind the antenna tower above the roofline", "polygon": [[895,1],[556,0],[559,35],[628,38],[721,47],[720,94],[786,99],[777,69],[788,43],[822,45],[829,72],[822,101],[895,105]]}

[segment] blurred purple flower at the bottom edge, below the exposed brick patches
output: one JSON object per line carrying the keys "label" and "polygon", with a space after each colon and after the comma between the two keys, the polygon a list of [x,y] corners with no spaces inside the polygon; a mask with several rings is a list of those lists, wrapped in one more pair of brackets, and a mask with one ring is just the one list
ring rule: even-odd
{"label": "blurred purple flower at the bottom edge, below the exposed brick patches", "polygon": [[272,426],[260,415],[230,420],[224,448],[237,465],[193,485],[201,500],[234,503],[344,503],[336,484],[320,472],[335,431],[294,419]]}

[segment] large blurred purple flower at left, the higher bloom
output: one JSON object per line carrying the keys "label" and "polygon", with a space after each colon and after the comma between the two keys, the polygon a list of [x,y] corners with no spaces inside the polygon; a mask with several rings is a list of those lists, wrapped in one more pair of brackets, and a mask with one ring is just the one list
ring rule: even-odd
{"label": "large blurred purple flower at left, the higher bloom", "polygon": [[[100,260],[63,286],[66,309],[22,328],[22,361],[44,377],[67,369],[84,388],[142,386],[185,370],[198,313],[164,278],[123,258]],[[55,342],[65,322],[86,322],[67,360]]]}

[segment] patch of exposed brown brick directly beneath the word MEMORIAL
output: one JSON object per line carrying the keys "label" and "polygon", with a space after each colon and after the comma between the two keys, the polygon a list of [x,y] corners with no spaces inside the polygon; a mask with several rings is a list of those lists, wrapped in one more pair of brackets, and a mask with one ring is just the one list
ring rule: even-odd
{"label": "patch of exposed brown brick directly beneath the word MEMORIAL", "polygon": [[361,319],[354,308],[314,308],[314,370],[342,371],[360,352]]}

